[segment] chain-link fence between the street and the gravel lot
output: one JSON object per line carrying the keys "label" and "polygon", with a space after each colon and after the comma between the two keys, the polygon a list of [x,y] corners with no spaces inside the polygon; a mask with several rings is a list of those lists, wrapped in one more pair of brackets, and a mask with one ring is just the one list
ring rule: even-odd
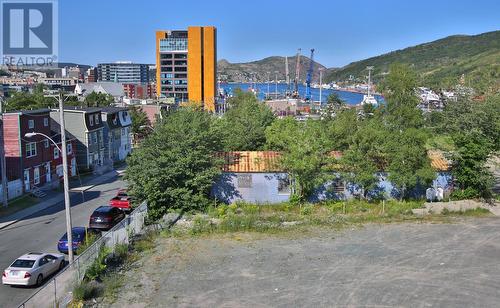
{"label": "chain-link fence between the street and the gravel lot", "polygon": [[35,294],[26,299],[19,307],[45,308],[66,307],[72,299],[73,288],[80,283],[85,271],[92,265],[102,247],[114,251],[117,244],[128,244],[132,236],[144,229],[144,220],[147,215],[147,204],[144,202],[130,215],[104,233],[80,255],[74,262],[66,266],[56,276],[47,281]]}

